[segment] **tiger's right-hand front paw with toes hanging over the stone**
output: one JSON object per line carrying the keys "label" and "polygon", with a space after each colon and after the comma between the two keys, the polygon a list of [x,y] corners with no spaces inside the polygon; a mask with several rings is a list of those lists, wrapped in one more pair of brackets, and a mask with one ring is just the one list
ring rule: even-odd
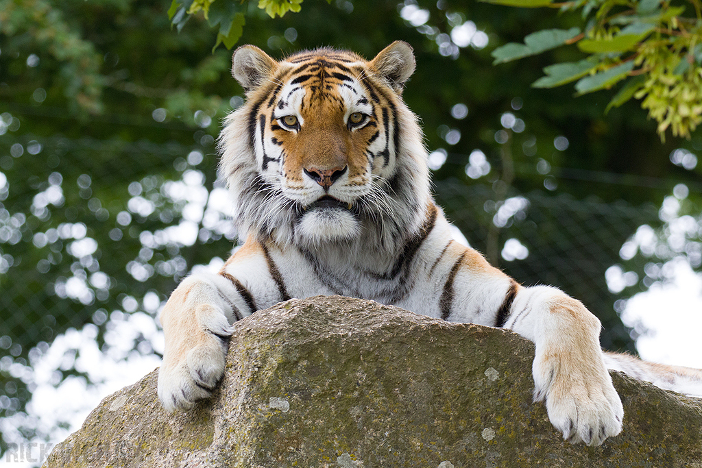
{"label": "tiger's right-hand front paw with toes hanging over the stone", "polygon": [[565,440],[599,446],[621,432],[621,399],[604,363],[568,360],[537,356],[534,401],[545,401],[548,419]]}

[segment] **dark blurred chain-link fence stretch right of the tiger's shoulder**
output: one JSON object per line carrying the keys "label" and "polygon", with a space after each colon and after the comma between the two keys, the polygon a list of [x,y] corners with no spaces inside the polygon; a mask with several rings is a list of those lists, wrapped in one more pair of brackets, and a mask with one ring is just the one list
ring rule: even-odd
{"label": "dark blurred chain-link fence stretch right of the tiger's shoulder", "polygon": [[474,248],[525,285],[557,286],[582,300],[602,320],[602,345],[633,351],[615,313],[619,297],[609,291],[604,273],[621,262],[619,250],[638,227],[658,222],[656,206],[546,191],[496,203],[489,185],[458,180],[438,182],[436,192]]}

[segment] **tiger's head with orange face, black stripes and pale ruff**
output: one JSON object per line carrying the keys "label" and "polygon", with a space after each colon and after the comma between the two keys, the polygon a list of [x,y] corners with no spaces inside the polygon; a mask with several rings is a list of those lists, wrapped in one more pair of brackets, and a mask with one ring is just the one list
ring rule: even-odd
{"label": "tiger's head with orange face, black stripes and pale ruff", "polygon": [[390,246],[416,232],[430,182],[416,116],[401,98],[414,67],[401,41],[370,61],[331,48],[276,61],[239,47],[232,74],[246,103],[219,140],[239,236]]}

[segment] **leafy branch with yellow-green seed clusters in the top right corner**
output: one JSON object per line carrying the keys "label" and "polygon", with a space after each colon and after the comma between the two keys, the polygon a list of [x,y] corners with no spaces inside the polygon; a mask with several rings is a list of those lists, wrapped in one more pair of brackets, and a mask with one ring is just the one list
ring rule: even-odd
{"label": "leafy branch with yellow-green seed clusters in the top right corner", "polygon": [[[566,2],[486,0],[517,7],[576,11],[582,28],[567,32],[532,32],[525,44],[505,44],[493,51],[496,63],[576,44],[588,58],[545,67],[534,86],[550,88],[577,81],[579,94],[611,88],[624,81],[607,109],[631,98],[665,131],[689,138],[702,122],[702,2],[700,0],[576,0]],[[581,32],[582,29],[582,32]]]}

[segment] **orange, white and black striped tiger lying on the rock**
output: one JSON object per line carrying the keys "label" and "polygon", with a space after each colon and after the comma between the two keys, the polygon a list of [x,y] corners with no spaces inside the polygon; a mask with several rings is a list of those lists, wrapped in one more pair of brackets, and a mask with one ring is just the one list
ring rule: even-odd
{"label": "orange, white and black striped tiger lying on the rock", "polygon": [[293,297],[344,295],[449,322],[506,328],[535,344],[534,401],[571,443],[619,434],[608,369],[702,396],[702,371],[603,352],[600,321],[552,286],[522,286],[453,239],[428,151],[402,92],[416,67],[396,41],[373,60],[319,48],[274,60],[234,51],[246,102],[223,121],[220,175],[243,245],[196,272],[160,314],[158,396],[168,411],[211,396],[233,324]]}

